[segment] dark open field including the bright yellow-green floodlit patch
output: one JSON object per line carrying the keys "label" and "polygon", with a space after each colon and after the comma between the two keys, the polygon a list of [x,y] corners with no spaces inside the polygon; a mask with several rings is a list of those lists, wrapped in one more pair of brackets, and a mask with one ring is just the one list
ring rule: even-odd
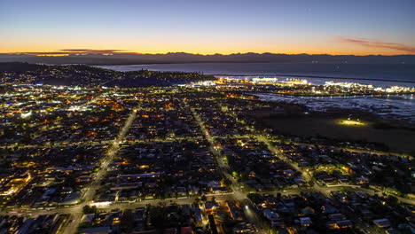
{"label": "dark open field including the bright yellow-green floodlit patch", "polygon": [[388,145],[392,152],[415,152],[415,131],[376,129],[372,122],[321,116],[270,117],[262,119],[266,126],[281,134],[324,136],[348,141],[367,141]]}

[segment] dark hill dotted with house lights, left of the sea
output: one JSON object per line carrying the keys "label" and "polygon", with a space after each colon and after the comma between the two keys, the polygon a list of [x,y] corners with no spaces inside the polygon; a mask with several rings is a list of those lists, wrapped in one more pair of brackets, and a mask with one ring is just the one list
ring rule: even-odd
{"label": "dark hill dotted with house lights, left of the sea", "polygon": [[0,63],[0,83],[43,83],[107,87],[168,86],[215,80],[213,75],[140,70],[117,72],[85,65],[39,65],[20,62]]}

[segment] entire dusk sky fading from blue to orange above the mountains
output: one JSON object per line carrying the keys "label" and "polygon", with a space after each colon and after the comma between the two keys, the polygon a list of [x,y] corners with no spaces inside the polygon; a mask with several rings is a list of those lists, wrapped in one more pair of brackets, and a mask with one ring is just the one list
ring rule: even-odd
{"label": "entire dusk sky fading from blue to orange above the mountains", "polygon": [[0,0],[0,53],[415,54],[413,12],[414,0]]}

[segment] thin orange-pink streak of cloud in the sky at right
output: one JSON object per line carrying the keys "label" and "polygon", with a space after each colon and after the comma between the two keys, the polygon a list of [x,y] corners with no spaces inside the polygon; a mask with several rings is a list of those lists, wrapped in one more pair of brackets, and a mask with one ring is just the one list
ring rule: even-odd
{"label": "thin orange-pink streak of cloud in the sky at right", "polygon": [[404,51],[407,53],[415,53],[415,47],[409,46],[402,43],[386,43],[380,40],[374,40],[362,37],[349,37],[349,36],[338,36],[335,38],[338,43],[352,43],[364,47],[378,48],[378,49],[391,49],[395,51]]}

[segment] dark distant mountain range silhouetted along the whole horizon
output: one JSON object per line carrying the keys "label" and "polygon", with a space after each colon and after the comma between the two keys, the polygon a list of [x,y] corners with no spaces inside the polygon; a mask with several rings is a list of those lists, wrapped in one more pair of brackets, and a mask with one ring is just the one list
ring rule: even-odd
{"label": "dark distant mountain range silhouetted along the whole horizon", "polygon": [[200,55],[184,52],[166,54],[114,53],[70,54],[67,56],[37,56],[34,54],[0,54],[0,62],[28,62],[46,64],[89,64],[89,65],[137,65],[166,63],[298,63],[335,62],[360,64],[415,64],[415,55],[329,55],[329,54],[275,54],[275,53],[235,53],[229,55]]}

